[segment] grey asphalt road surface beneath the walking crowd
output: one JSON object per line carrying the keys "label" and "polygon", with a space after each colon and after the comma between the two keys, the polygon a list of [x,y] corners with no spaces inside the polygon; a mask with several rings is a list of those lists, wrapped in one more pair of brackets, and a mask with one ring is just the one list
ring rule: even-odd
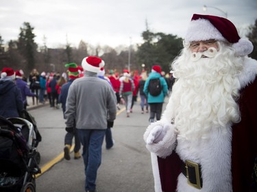
{"label": "grey asphalt road surface beneath the walking crowd", "polygon": [[[30,106],[29,113],[34,115],[42,135],[38,151],[40,167],[45,168],[53,159],[58,159],[58,155],[62,156],[65,134],[62,110],[45,104],[36,108]],[[103,143],[102,163],[97,175],[99,192],[154,192],[150,154],[143,141],[148,118],[149,113],[140,113],[138,102],[130,118],[126,118],[125,111],[119,111],[112,129],[114,147],[106,150]],[[61,159],[36,179],[36,191],[84,191],[84,180],[83,159]]]}

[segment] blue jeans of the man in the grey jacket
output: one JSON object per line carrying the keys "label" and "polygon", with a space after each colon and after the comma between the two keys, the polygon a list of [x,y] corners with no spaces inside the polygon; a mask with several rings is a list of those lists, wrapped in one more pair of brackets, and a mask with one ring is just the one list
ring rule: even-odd
{"label": "blue jeans of the man in the grey jacket", "polygon": [[95,190],[97,169],[101,165],[101,146],[106,130],[77,129],[79,140],[83,146],[83,160],[86,175],[86,190]]}

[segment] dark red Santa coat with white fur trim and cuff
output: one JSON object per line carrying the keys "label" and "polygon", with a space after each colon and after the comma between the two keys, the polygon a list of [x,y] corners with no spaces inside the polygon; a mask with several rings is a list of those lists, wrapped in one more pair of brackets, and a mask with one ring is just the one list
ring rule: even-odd
{"label": "dark red Santa coat with white fur trim and cuff", "polygon": [[[257,157],[257,62],[245,59],[244,70],[239,78],[241,94],[238,106],[241,111],[241,122],[228,127],[228,133],[221,135],[212,131],[211,141],[206,143],[186,143],[178,141],[173,131],[173,125],[167,135],[159,143],[147,145],[147,148],[158,156],[158,163],[153,167],[156,192],[219,192],[250,191],[254,159]],[[151,128],[166,122],[156,122],[147,128],[146,141]],[[189,152],[185,148],[195,148]],[[160,158],[165,156],[166,158]],[[196,159],[201,162],[203,188],[195,189],[187,184],[182,174],[181,161]],[[199,163],[199,162],[197,162]],[[160,180],[160,186],[158,186]]]}

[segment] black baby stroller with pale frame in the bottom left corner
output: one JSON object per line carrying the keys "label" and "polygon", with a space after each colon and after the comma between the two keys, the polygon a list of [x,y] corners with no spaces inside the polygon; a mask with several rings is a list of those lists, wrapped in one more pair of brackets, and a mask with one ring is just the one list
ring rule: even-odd
{"label": "black baby stroller with pale frame in the bottom left corner", "polygon": [[34,126],[23,118],[0,116],[0,191],[34,192],[40,167]]}

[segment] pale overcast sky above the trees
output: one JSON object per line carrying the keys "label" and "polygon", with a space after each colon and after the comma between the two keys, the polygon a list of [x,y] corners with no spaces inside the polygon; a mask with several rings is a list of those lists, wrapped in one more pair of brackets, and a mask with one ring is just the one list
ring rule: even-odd
{"label": "pale overcast sky above the trees", "polygon": [[[207,10],[203,10],[203,6]],[[39,46],[77,47],[140,44],[146,26],[184,38],[193,14],[212,14],[234,23],[241,36],[257,19],[257,0],[1,0],[0,35],[4,43],[17,40],[20,27],[34,27]],[[147,25],[146,25],[147,23]]]}

